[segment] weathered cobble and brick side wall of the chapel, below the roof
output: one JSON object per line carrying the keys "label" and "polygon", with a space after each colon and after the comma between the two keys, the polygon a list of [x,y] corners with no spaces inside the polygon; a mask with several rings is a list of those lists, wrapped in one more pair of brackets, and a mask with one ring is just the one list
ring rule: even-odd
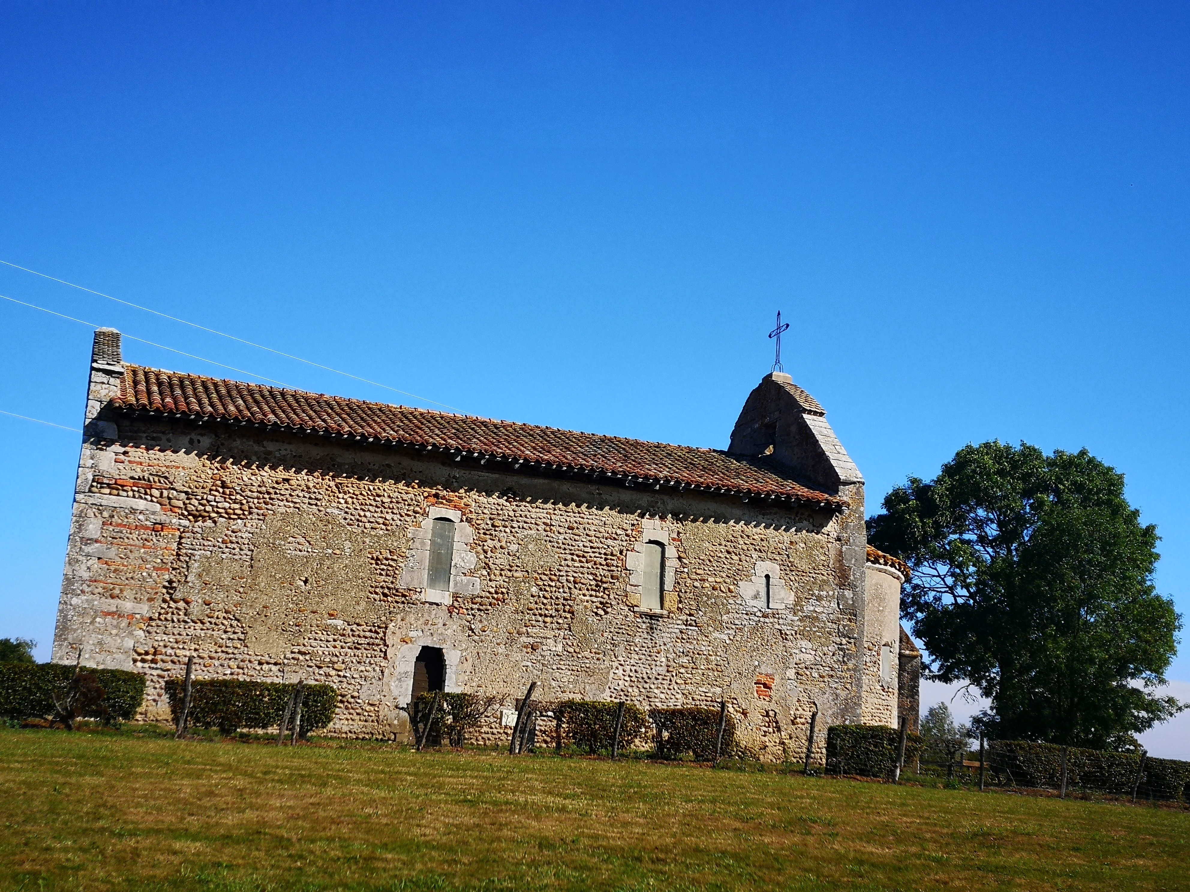
{"label": "weathered cobble and brick side wall of the chapel, below the roof", "polygon": [[[200,678],[332,684],[330,734],[401,737],[430,646],[447,690],[506,704],[534,680],[544,701],[725,699],[766,760],[801,758],[815,709],[820,728],[896,720],[883,632],[865,633],[862,478],[806,477],[832,498],[774,502],[123,408],[104,350],[54,658],[143,672],[149,718],[194,655]],[[461,524],[449,603],[402,588],[439,509]],[[630,555],[658,538],[672,577],[665,609],[643,610]],[[775,609],[753,591],[762,563],[779,569]],[[507,734],[494,717],[482,736]]]}

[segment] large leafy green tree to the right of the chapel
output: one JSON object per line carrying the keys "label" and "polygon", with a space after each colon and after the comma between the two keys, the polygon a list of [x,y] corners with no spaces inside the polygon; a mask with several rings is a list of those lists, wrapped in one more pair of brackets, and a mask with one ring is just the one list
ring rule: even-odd
{"label": "large leafy green tree to the right of the chapel", "polygon": [[1085,450],[965,446],[934,480],[892,490],[868,529],[913,567],[902,614],[938,679],[991,701],[990,733],[1128,748],[1182,708],[1153,693],[1182,627],[1153,586],[1157,528]]}

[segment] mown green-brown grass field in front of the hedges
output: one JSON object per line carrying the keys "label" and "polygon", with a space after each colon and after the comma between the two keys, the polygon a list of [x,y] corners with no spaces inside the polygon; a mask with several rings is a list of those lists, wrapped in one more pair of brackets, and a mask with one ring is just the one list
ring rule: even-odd
{"label": "mown green-brown grass field in front of the hedges", "polygon": [[383,745],[0,730],[0,887],[1190,888],[1190,814]]}

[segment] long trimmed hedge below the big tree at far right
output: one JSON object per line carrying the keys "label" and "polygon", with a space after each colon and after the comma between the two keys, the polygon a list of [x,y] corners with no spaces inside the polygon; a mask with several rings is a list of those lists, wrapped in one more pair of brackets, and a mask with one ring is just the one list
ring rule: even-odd
{"label": "long trimmed hedge below the big tree at far right", "polygon": [[[1023,740],[991,741],[988,769],[1000,785],[1061,786],[1061,746]],[[1107,753],[1071,747],[1066,754],[1066,784],[1072,789],[1130,794],[1140,768],[1138,753]],[[1177,759],[1145,759],[1138,794],[1146,799],[1180,800],[1190,783],[1190,762]]]}

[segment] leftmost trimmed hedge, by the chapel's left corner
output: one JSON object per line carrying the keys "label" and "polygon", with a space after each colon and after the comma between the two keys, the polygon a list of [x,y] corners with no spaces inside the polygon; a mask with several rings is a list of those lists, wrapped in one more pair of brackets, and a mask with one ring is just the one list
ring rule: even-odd
{"label": "leftmost trimmed hedge, by the chapel's left corner", "polygon": [[[81,666],[99,679],[106,695],[107,716],[95,718],[131,721],[140,711],[145,677],[125,670],[96,670]],[[0,716],[8,718],[51,718],[54,695],[62,697],[75,667],[61,662],[0,662]]]}

